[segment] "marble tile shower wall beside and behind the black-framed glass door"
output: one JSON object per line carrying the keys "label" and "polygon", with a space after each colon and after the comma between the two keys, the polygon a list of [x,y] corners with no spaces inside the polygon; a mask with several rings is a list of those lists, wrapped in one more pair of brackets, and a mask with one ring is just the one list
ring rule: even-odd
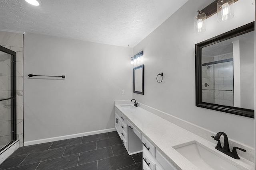
{"label": "marble tile shower wall beside and behind the black-framed glass door", "polygon": [[[12,33],[7,31],[0,31],[0,45],[16,52],[16,94],[17,94],[17,139],[20,140],[19,145],[23,146],[23,34],[22,33]],[[5,62],[8,60],[5,60]],[[5,64],[8,66],[8,63],[0,62],[1,64]],[[1,75],[0,75],[1,77]],[[4,76],[2,76],[4,77]],[[8,76],[5,77],[7,79]],[[7,96],[8,90],[6,91],[1,89],[1,83],[6,84],[8,80],[0,79],[0,96]],[[4,91],[4,92],[3,92]],[[0,102],[0,129],[4,127],[8,127],[10,125],[10,117],[8,115],[3,115],[2,113],[8,111],[10,109],[10,104],[4,103],[4,101]],[[4,133],[4,134],[1,134]],[[0,130],[0,141],[10,140],[10,136],[5,134],[6,132],[2,132]],[[0,143],[1,145],[1,143]]]}

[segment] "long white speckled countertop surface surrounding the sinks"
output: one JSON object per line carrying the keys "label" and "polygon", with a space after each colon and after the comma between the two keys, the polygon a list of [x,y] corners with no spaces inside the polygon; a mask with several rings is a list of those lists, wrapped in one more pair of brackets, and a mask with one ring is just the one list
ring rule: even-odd
{"label": "long white speckled countertop surface surrounding the sinks", "polygon": [[[116,104],[115,107],[119,109],[126,118],[133,123],[140,132],[147,137],[155,147],[166,156],[166,158],[176,166],[179,170],[199,170],[194,164],[182,156],[173,147],[188,143],[191,141],[197,141],[206,146],[208,150],[214,152],[224,160],[237,165],[242,170],[254,170],[254,163],[241,158],[235,160],[230,156],[219,152],[215,149],[217,144],[210,143],[206,139],[203,139],[190,131],[187,131],[141,107],[136,109],[123,109],[123,104]],[[127,105],[127,104],[126,104]],[[131,105],[132,106],[132,105]],[[206,148],[206,149],[207,149]],[[218,151],[218,152],[217,152]]]}

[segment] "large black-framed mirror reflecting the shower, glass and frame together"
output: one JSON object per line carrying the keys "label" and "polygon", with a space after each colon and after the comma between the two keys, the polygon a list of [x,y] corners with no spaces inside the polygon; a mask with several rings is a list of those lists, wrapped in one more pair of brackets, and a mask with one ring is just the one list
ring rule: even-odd
{"label": "large black-framed mirror reflecting the shower, glass and frame together", "polygon": [[196,106],[254,118],[254,22],[195,45]]}

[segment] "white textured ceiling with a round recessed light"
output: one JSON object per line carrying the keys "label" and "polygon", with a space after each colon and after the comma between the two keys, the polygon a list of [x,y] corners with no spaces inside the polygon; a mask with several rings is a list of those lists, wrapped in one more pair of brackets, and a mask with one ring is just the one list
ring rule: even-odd
{"label": "white textured ceiling with a round recessed light", "polygon": [[0,0],[0,29],[134,47],[188,0]]}

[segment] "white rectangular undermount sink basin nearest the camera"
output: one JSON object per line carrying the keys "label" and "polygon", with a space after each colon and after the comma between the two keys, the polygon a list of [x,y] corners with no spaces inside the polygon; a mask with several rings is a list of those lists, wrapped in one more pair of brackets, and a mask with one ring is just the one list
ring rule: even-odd
{"label": "white rectangular undermount sink basin nearest the camera", "polygon": [[204,147],[192,141],[173,148],[201,170],[241,170]]}

